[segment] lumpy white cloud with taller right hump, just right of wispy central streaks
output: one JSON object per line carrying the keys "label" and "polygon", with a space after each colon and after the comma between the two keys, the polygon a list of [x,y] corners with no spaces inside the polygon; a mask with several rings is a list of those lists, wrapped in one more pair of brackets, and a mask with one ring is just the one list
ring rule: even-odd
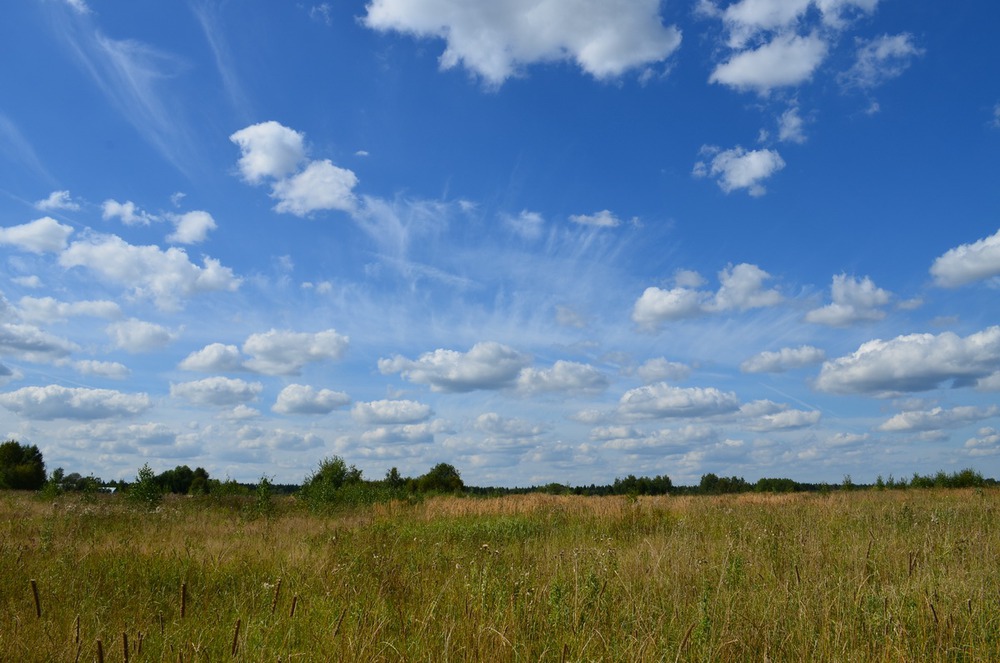
{"label": "lumpy white cloud with taller right hump, just right of wispy central streaks", "polygon": [[688,272],[678,274],[674,288],[646,288],[632,308],[633,322],[640,327],[652,329],[664,322],[706,313],[775,306],[782,301],[781,293],[777,290],[764,288],[764,283],[771,279],[771,275],[756,265],[730,265],[720,271],[718,277],[720,287],[714,294],[680,285],[681,278],[684,282],[694,282]]}

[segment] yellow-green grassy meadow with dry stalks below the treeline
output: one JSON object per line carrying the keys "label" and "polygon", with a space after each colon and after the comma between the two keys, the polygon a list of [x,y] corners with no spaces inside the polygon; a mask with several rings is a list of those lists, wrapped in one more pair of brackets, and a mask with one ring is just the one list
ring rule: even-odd
{"label": "yellow-green grassy meadow with dry stalks below the treeline", "polygon": [[250,506],[0,493],[0,661],[1000,660],[995,489]]}

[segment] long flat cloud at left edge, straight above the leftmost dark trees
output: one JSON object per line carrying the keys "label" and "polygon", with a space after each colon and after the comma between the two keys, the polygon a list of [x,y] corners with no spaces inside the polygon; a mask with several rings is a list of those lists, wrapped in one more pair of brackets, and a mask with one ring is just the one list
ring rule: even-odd
{"label": "long flat cloud at left edge, straight above the leftmost dark trees", "polygon": [[0,405],[27,419],[109,419],[140,414],[150,407],[146,394],[59,385],[24,387],[0,394]]}

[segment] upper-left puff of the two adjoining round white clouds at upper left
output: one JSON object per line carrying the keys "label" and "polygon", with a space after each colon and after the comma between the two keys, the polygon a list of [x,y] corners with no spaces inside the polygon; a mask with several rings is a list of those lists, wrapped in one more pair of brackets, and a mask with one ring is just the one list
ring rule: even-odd
{"label": "upper-left puff of the two adjoining round white clouds at upper left", "polygon": [[240,173],[250,184],[282,179],[305,161],[305,136],[274,120],[240,129],[229,140],[240,147]]}

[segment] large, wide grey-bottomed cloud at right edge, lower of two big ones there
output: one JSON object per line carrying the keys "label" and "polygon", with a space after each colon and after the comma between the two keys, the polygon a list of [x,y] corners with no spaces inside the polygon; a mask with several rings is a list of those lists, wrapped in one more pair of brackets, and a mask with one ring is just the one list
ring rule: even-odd
{"label": "large, wide grey-bottomed cloud at right edge, lower of two big ones there", "polygon": [[955,386],[1000,369],[1000,327],[961,338],[952,332],[910,334],[862,344],[854,353],[827,361],[816,388],[841,394],[892,395]]}

